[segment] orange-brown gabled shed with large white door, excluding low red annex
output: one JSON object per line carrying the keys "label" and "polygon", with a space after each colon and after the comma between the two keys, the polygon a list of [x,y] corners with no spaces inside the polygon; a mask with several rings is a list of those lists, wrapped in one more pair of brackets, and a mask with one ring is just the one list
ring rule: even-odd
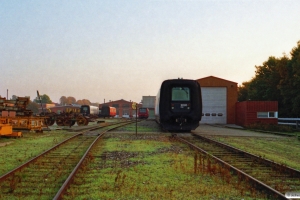
{"label": "orange-brown gabled shed with large white door, excluding low red annex", "polygon": [[196,80],[202,92],[203,114],[200,123],[235,124],[237,83],[208,76]]}

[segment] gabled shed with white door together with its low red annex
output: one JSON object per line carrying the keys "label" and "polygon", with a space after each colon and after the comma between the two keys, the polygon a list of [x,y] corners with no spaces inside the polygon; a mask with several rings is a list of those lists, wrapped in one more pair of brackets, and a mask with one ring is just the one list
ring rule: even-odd
{"label": "gabled shed with white door together with its low red annex", "polygon": [[202,92],[202,119],[200,124],[278,123],[277,101],[238,102],[237,83],[208,76],[196,80]]}

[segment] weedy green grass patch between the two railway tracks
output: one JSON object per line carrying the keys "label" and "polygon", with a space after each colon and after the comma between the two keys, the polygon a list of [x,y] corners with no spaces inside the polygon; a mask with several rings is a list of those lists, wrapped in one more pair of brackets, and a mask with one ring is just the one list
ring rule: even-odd
{"label": "weedy green grass patch between the two railway tracks", "polygon": [[259,199],[165,136],[114,134],[98,146],[64,199]]}

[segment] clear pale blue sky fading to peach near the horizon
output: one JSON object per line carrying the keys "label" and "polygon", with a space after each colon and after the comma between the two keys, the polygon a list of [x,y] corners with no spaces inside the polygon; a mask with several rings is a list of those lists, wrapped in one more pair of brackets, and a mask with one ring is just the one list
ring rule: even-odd
{"label": "clear pale blue sky fading to peach near the horizon", "polygon": [[249,81],[300,40],[299,0],[0,0],[0,95],[140,102],[165,79]]}

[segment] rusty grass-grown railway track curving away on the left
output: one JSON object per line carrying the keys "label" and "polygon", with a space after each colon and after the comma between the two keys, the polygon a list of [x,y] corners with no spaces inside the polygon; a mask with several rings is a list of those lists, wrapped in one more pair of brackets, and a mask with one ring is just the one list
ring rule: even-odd
{"label": "rusty grass-grown railway track curving away on the left", "polygon": [[0,177],[0,199],[60,199],[93,144],[105,132],[130,123],[80,132],[4,174]]}

